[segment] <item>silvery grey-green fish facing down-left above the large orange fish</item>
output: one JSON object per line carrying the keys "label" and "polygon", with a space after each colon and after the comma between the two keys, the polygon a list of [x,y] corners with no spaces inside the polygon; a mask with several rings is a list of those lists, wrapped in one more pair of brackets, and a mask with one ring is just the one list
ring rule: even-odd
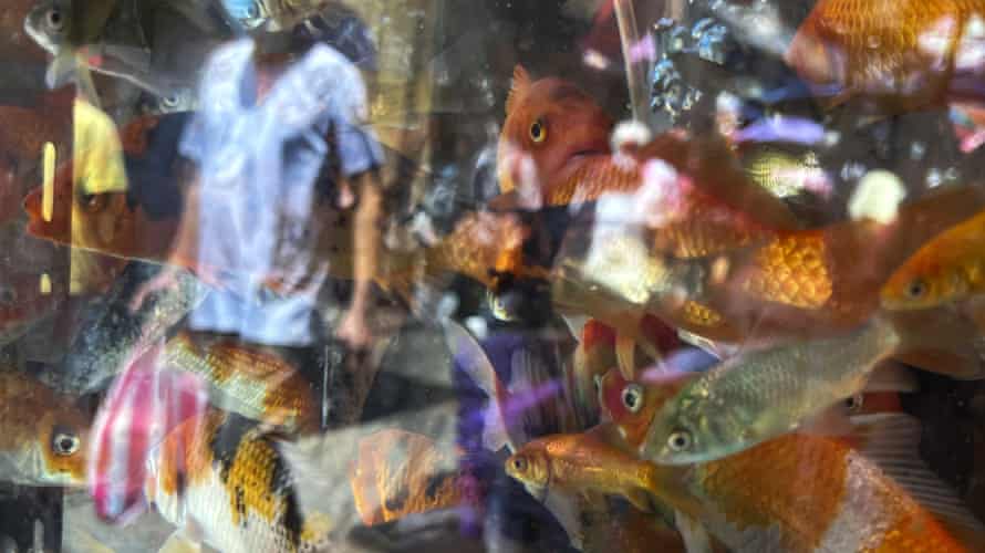
{"label": "silvery grey-green fish facing down-left above the large orange fish", "polygon": [[650,426],[645,459],[685,465],[719,459],[796,429],[851,397],[899,344],[881,320],[834,338],[743,352],[695,377]]}

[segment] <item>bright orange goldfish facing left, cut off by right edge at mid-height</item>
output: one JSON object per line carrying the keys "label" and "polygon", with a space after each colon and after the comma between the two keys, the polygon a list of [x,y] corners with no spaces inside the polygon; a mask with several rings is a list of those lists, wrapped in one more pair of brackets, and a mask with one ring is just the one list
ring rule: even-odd
{"label": "bright orange goldfish facing left, cut off by right edge at mid-height", "polygon": [[977,246],[983,226],[985,211],[930,239],[882,286],[882,306],[926,309],[979,293],[985,267]]}

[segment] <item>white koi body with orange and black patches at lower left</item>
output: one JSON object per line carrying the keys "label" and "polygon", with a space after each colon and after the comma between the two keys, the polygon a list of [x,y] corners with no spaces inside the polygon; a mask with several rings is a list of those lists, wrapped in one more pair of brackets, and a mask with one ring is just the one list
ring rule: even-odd
{"label": "white koi body with orange and black patches at lower left", "polygon": [[179,528],[198,526],[226,553],[318,551],[329,521],[302,517],[273,444],[232,416],[209,411],[183,422],[149,463],[147,498]]}

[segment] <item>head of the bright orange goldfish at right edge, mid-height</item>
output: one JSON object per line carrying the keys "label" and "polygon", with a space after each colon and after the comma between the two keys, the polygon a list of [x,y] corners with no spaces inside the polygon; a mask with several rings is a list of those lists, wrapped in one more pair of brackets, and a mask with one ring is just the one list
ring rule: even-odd
{"label": "head of the bright orange goldfish at right edge, mid-height", "polygon": [[927,309],[957,298],[966,288],[957,265],[935,254],[917,252],[879,291],[888,310]]}

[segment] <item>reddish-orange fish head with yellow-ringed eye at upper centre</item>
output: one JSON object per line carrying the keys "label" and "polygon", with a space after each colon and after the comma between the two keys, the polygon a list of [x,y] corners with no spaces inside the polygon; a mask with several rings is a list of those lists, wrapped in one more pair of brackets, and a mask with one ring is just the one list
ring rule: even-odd
{"label": "reddish-orange fish head with yellow-ringed eye at upper centre", "polygon": [[531,82],[522,66],[514,71],[497,152],[504,192],[537,189],[572,161],[610,152],[613,121],[573,83],[560,79]]}

